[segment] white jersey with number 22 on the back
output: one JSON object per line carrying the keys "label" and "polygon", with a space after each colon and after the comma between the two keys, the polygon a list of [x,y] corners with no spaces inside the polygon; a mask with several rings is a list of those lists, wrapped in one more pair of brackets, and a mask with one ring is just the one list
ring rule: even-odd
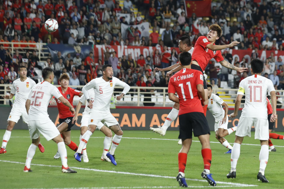
{"label": "white jersey with number 22 on the back", "polygon": [[28,99],[30,99],[30,110],[28,121],[49,119],[47,114],[47,107],[52,97],[58,99],[62,97],[57,87],[47,81],[36,84]]}

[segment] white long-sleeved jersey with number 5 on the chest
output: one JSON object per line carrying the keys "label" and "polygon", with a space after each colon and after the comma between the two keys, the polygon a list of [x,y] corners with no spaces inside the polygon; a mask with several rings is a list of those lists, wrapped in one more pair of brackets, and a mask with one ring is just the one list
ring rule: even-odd
{"label": "white long-sleeved jersey with number 5 on the chest", "polygon": [[92,79],[89,83],[87,83],[82,91],[86,99],[89,99],[88,90],[94,89],[95,97],[93,102],[93,110],[99,112],[110,112],[109,105],[110,100],[112,98],[112,93],[114,90],[114,86],[126,87],[128,86],[128,90],[123,93],[126,94],[130,87],[125,82],[120,81],[116,77],[112,77],[112,80],[106,82],[103,77],[99,77],[96,79]]}

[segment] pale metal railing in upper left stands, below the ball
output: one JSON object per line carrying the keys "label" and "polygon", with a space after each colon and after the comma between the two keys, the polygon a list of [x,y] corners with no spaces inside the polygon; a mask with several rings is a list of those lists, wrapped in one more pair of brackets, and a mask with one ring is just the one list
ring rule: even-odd
{"label": "pale metal railing in upper left stands, below the ball", "polygon": [[[9,47],[4,47],[4,49],[11,49],[12,56],[14,55],[16,50],[19,50],[20,54],[26,53],[26,50],[28,50],[29,53],[32,53],[33,50],[36,50],[40,61],[45,60],[46,58],[50,58],[49,52],[44,52],[45,50],[48,50],[48,48],[43,47],[43,45],[47,45],[47,43],[0,42],[0,44],[9,44]],[[15,47],[14,45],[20,46]],[[21,45],[28,45],[28,47],[21,47]],[[29,45],[35,45],[35,47],[30,47]]]}

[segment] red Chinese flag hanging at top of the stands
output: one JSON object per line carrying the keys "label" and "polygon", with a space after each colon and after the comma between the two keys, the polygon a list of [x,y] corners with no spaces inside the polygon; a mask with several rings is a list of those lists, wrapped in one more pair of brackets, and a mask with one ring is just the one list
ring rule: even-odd
{"label": "red Chinese flag hanging at top of the stands", "polygon": [[187,17],[195,13],[197,17],[211,16],[211,0],[185,1]]}

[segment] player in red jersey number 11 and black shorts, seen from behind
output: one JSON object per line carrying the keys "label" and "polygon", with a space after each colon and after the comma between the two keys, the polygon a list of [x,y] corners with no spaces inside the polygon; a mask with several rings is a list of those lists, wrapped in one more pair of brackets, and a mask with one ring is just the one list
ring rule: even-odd
{"label": "player in red jersey number 11 and black shorts, seen from behind", "polygon": [[[187,154],[192,143],[193,131],[194,136],[198,137],[202,145],[201,154],[204,162],[204,171],[201,173],[201,176],[210,185],[216,186],[216,182],[212,178],[212,174],[210,174],[212,159],[209,141],[210,130],[202,107],[205,96],[207,96],[203,88],[203,73],[191,69],[191,54],[188,52],[180,53],[179,63],[182,66],[182,70],[170,78],[168,85],[169,99],[180,104],[178,112],[180,134],[178,138],[182,139],[182,147],[178,153],[179,173],[177,180],[180,186],[187,187],[184,170]],[[178,93],[178,97],[175,96],[175,92]]]}

